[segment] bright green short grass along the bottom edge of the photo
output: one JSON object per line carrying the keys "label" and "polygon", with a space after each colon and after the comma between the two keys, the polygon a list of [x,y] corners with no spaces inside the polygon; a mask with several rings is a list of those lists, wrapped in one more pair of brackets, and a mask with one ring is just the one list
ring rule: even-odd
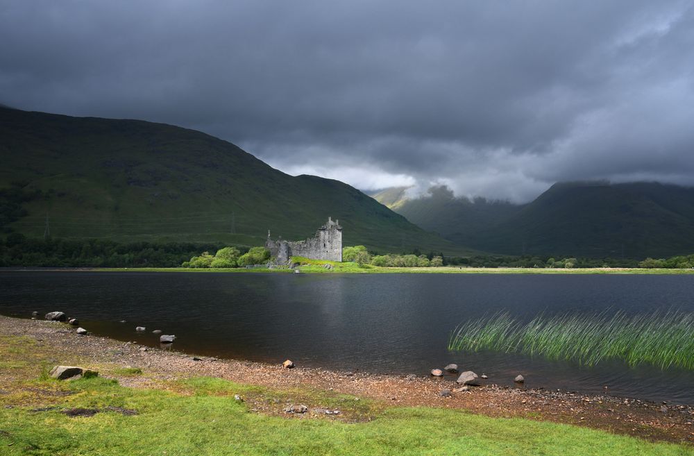
{"label": "bright green short grass along the bottom edge of the photo", "polygon": [[[38,380],[33,387],[49,383],[56,381]],[[214,378],[196,378],[180,386],[183,394],[126,388],[103,378],[62,383],[60,389],[72,394],[60,398],[54,409],[0,408],[0,454],[694,455],[691,446],[446,409],[387,408],[359,423],[267,416],[234,399],[234,394],[249,394],[252,387]],[[338,397],[332,400],[339,406]],[[137,414],[61,413],[76,407],[119,407]]]}

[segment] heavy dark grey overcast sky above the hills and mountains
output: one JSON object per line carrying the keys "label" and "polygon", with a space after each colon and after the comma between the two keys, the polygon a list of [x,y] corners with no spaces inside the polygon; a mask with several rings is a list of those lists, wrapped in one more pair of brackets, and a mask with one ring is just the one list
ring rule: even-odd
{"label": "heavy dark grey overcast sky above the hills and mountains", "polygon": [[196,128],[360,189],[694,185],[692,5],[0,0],[0,103]]}

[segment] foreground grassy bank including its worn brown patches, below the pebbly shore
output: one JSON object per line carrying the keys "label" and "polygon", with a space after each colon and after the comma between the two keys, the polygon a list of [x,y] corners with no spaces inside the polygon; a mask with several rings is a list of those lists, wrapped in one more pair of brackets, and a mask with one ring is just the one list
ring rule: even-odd
{"label": "foreground grassy bank including its worn brown patches, below the pebbly shore", "polygon": [[[310,387],[157,378],[89,358],[99,378],[51,380],[46,371],[56,362],[87,359],[33,337],[0,335],[1,455],[694,455],[686,444],[574,425],[393,407]],[[285,414],[285,404],[310,412]],[[319,407],[341,413],[317,414]]]}

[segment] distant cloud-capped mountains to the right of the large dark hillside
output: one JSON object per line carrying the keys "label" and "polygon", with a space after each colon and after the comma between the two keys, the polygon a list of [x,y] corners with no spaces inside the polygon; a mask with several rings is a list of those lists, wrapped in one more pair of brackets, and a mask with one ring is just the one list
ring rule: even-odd
{"label": "distant cloud-capped mountains to the right of the large dark hillside", "polygon": [[482,251],[632,258],[694,252],[694,189],[677,185],[558,183],[525,205],[456,199],[439,188],[391,207]]}

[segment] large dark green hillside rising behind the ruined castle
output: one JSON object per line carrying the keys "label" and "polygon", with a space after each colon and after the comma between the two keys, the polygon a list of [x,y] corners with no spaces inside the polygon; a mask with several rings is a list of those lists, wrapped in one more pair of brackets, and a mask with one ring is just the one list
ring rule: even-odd
{"label": "large dark green hillside rising behind the ruined castle", "polygon": [[328,216],[345,244],[465,253],[337,180],[289,176],[229,142],[137,120],[0,108],[0,229],[119,242],[253,245],[267,230],[313,235]]}

